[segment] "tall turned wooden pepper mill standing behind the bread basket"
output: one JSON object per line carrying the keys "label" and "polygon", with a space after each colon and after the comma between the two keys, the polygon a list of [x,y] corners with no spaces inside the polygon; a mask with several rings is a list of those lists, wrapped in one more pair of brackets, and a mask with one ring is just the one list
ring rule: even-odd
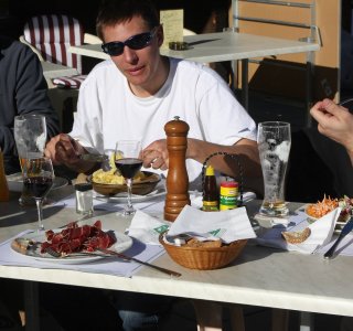
{"label": "tall turned wooden pepper mill standing behind the bread basket", "polygon": [[190,204],[189,177],[185,164],[189,125],[178,116],[164,126],[169,170],[167,175],[167,196],[164,220],[175,221],[185,204]]}

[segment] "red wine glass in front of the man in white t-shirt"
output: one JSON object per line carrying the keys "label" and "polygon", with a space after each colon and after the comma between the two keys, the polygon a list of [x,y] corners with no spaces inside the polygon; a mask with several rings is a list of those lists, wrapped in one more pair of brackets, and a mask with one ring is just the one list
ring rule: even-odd
{"label": "red wine glass in front of the man in white t-shirt", "polygon": [[119,140],[115,150],[115,166],[125,179],[128,196],[124,216],[130,216],[136,213],[131,203],[133,177],[142,167],[141,142],[138,140]]}

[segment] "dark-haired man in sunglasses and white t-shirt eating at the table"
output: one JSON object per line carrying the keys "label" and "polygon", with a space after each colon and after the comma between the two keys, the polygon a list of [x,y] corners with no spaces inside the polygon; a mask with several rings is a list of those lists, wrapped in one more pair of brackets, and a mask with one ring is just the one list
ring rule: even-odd
{"label": "dark-haired man in sunglasses and white t-shirt eating at the table", "polygon": [[[190,126],[186,168],[191,186],[201,189],[202,163],[224,151],[239,154],[245,182],[258,191],[261,169],[254,120],[210,67],[160,55],[163,29],[150,1],[105,1],[97,34],[110,60],[99,63],[83,83],[73,130],[47,143],[47,157],[89,171],[79,153],[114,149],[118,140],[141,140],[143,167],[165,173],[164,125],[179,116]],[[213,158],[211,163],[220,172],[238,175],[237,167],[223,158]],[[124,330],[157,330],[171,300],[117,292],[114,305]]]}

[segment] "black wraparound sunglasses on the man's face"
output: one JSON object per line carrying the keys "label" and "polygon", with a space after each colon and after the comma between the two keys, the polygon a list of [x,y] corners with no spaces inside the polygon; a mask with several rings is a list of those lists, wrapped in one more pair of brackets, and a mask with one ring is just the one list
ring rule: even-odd
{"label": "black wraparound sunglasses on the man's face", "polygon": [[150,32],[136,34],[127,39],[125,42],[110,42],[101,45],[103,52],[110,56],[119,56],[124,53],[124,47],[128,46],[131,50],[142,50],[147,47],[156,34],[157,26]]}

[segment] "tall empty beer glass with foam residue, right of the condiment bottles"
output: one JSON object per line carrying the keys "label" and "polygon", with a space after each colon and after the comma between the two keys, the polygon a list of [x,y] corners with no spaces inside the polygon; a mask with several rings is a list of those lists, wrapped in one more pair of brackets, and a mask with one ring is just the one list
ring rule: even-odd
{"label": "tall empty beer glass with foam residue, right of the condiment bottles", "polygon": [[264,174],[265,196],[260,213],[286,216],[285,181],[290,152],[290,124],[265,121],[258,125],[257,143]]}

